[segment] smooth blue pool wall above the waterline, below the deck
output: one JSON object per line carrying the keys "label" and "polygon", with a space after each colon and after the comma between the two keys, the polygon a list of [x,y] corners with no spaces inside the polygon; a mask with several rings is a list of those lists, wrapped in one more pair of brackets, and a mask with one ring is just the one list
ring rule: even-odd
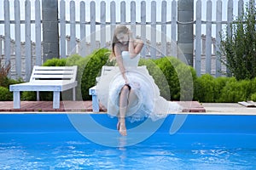
{"label": "smooth blue pool wall above the waterline, below the deck", "polygon": [[[115,129],[116,118],[107,114],[0,114],[0,132],[60,132],[76,131],[70,115],[80,120],[93,118],[104,127]],[[168,115],[156,133],[169,133],[175,115]],[[154,122],[152,122],[154,123]],[[128,128],[139,122],[126,122]],[[91,129],[95,132],[95,129]],[[188,115],[177,133],[252,133],[256,134],[256,116]]]}

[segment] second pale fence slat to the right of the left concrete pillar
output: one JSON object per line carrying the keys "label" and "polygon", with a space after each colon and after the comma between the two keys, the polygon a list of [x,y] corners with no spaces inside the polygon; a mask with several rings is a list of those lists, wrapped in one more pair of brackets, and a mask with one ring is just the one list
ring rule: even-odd
{"label": "second pale fence slat to the right of the left concrete pillar", "polygon": [[76,7],[75,2],[70,2],[70,49],[68,54],[76,53]]}

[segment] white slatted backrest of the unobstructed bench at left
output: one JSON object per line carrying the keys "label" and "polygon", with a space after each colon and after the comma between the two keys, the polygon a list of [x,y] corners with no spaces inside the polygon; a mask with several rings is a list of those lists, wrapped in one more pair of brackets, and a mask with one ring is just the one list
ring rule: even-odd
{"label": "white slatted backrest of the unobstructed bench at left", "polygon": [[42,80],[67,80],[74,82],[77,77],[78,66],[38,66],[33,67],[30,82]]}

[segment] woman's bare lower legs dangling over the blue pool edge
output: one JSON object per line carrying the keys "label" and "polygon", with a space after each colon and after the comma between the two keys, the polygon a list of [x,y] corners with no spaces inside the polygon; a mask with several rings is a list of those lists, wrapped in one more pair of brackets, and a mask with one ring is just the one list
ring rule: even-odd
{"label": "woman's bare lower legs dangling over the blue pool edge", "polygon": [[119,98],[119,133],[123,136],[126,136],[126,126],[125,126],[125,113],[128,105],[128,96],[130,93],[130,88],[125,85],[120,92]]}

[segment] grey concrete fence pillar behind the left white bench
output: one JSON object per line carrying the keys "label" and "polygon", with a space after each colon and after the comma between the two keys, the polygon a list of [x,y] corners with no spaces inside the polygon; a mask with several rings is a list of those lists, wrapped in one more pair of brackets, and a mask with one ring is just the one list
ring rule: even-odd
{"label": "grey concrete fence pillar behind the left white bench", "polygon": [[58,0],[42,1],[43,53],[47,59],[59,58]]}

